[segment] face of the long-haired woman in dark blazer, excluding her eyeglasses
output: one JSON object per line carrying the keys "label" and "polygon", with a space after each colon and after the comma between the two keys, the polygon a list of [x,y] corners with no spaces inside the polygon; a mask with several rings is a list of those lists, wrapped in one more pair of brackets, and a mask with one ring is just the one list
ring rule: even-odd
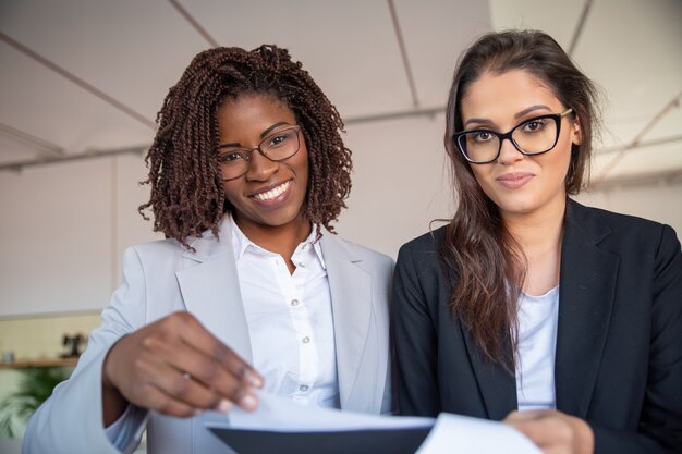
{"label": "face of the long-haired woman in dark blazer, excluding her eyeglasses", "polygon": [[[567,108],[539,78],[523,70],[484,73],[461,101],[464,130],[498,133],[507,133],[534,116],[562,113]],[[502,140],[497,160],[470,165],[503,219],[552,208],[562,212],[571,145],[580,145],[580,123],[569,115],[561,119],[560,135],[550,151],[525,156],[510,140]]]}

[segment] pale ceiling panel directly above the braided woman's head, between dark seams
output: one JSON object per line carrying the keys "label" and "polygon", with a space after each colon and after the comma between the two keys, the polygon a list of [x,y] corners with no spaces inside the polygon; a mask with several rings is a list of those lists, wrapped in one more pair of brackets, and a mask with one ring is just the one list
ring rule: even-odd
{"label": "pale ceiling panel directly above the braided woman's head, between dark seams", "polygon": [[183,4],[220,45],[289,48],[344,116],[411,107],[386,1],[205,0]]}

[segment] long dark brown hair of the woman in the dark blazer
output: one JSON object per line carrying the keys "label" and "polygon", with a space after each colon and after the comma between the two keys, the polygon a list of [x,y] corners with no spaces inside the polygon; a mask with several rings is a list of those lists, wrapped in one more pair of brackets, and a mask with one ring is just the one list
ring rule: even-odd
{"label": "long dark brown hair of the woman in the dark blazer", "polygon": [[593,83],[561,46],[536,30],[483,36],[461,57],[454,72],[444,143],[458,208],[447,226],[440,256],[453,287],[453,315],[470,330],[484,356],[509,371],[513,370],[519,344],[517,300],[527,262],[521,246],[504,228],[497,205],[483,192],[471,164],[456,149],[452,135],[463,130],[461,102],[471,85],[484,73],[512,70],[538,77],[581,121],[582,145],[571,149],[565,177],[568,194],[577,194],[586,181],[597,95]]}

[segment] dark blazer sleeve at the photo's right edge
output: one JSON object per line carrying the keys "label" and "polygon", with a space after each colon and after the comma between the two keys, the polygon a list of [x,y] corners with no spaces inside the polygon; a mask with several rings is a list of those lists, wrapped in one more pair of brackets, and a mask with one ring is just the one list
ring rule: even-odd
{"label": "dark blazer sleeve at the photo's right edge", "polygon": [[637,432],[624,432],[590,424],[596,454],[682,453],[682,251],[670,226],[662,228],[655,263],[649,364],[640,427]]}

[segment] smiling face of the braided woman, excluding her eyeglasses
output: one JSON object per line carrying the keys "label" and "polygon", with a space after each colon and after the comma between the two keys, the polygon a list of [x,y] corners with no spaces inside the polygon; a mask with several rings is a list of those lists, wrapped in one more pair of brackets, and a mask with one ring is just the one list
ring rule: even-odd
{"label": "smiling face of the braided woman, excluding her eyeglasses", "polygon": [[[219,142],[230,147],[255,148],[266,137],[296,124],[293,112],[268,95],[227,99],[217,116]],[[308,152],[303,134],[297,134],[300,147],[292,157],[273,162],[254,150],[246,173],[223,181],[226,197],[234,208],[232,216],[244,233],[307,222],[301,208],[308,182]]]}

